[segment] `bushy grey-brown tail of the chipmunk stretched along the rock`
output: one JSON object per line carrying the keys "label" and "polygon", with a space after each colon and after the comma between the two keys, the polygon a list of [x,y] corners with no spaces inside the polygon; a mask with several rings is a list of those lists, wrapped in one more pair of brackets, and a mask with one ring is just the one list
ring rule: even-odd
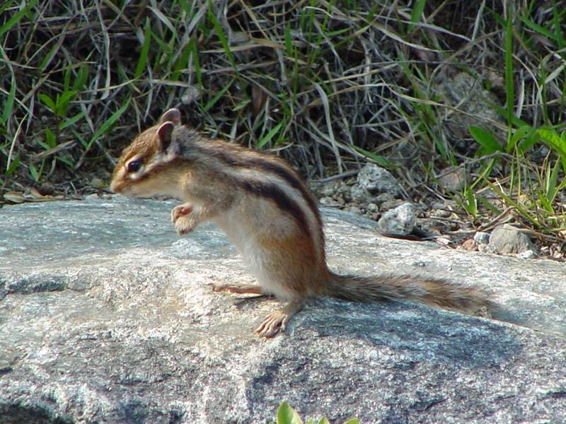
{"label": "bushy grey-brown tail of the chipmunk stretched along the rock", "polygon": [[396,274],[358,277],[330,273],[327,295],[356,302],[406,300],[484,317],[490,317],[494,306],[477,288],[439,278]]}

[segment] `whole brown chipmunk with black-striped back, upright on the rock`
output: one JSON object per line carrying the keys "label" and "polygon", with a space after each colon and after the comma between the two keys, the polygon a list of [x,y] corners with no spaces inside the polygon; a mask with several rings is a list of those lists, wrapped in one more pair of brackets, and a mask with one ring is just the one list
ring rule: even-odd
{"label": "whole brown chipmunk with black-striped back, upright on the rock", "polygon": [[236,245],[259,285],[221,284],[215,291],[275,295],[286,302],[255,330],[272,337],[313,296],[359,302],[409,300],[468,314],[490,301],[480,290],[437,278],[383,274],[341,276],[328,269],[315,196],[284,160],[209,139],[168,110],[124,149],[110,184],[126,196],[156,194],[186,203],[171,220],[179,235],[212,221]]}

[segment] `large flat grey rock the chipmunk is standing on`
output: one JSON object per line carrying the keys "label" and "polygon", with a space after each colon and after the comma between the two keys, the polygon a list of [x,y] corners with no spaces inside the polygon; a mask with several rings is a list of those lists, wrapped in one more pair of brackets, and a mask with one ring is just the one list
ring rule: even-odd
{"label": "large flat grey rock the chipmunk is standing on", "polygon": [[330,266],[448,276],[509,324],[419,305],[277,307],[213,293],[252,279],[224,235],[179,238],[173,203],[122,198],[0,209],[0,423],[265,423],[288,401],[333,423],[566,420],[566,268],[376,235],[325,212]]}

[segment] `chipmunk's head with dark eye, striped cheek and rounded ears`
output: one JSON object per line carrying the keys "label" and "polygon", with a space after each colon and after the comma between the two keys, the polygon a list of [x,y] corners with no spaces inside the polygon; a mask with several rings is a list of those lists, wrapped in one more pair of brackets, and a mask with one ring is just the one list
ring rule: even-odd
{"label": "chipmunk's head with dark eye, striped cheek and rounded ears", "polygon": [[157,125],[139,134],[122,151],[110,183],[112,192],[134,197],[178,196],[173,172],[178,155],[172,141],[173,129],[180,124],[179,110],[170,109]]}

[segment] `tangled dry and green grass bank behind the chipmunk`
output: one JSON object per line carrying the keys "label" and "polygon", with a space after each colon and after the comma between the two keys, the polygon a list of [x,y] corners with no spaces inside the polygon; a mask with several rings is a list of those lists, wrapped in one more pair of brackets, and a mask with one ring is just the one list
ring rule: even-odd
{"label": "tangled dry and green grass bank behind the chipmunk", "polygon": [[566,1],[7,0],[0,186],[103,188],[174,106],[305,177],[372,160],[472,225],[564,240],[565,30]]}

